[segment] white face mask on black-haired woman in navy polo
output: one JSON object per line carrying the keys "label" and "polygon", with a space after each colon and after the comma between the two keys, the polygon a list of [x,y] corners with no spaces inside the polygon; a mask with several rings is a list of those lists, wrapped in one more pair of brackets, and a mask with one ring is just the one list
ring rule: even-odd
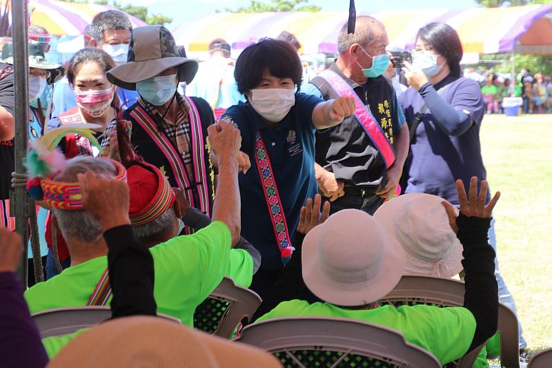
{"label": "white face mask on black-haired woman in navy polo", "polygon": [[269,122],[282,122],[295,105],[295,89],[266,88],[251,90],[250,104]]}

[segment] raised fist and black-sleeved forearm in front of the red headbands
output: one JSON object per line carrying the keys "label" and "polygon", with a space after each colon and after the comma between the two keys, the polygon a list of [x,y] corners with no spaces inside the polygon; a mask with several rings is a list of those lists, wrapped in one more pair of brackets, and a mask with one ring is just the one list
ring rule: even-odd
{"label": "raised fist and black-sleeved forearm in front of the red headbands", "polygon": [[78,177],[84,206],[98,220],[109,249],[112,317],[155,316],[153,258],[130,226],[128,185],[92,171]]}

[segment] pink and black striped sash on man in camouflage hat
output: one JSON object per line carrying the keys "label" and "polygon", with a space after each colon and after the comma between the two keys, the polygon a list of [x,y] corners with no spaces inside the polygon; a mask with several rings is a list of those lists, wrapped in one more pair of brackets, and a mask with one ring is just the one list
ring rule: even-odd
{"label": "pink and black striped sash on man in camouflage hat", "polygon": [[[207,169],[205,166],[205,142],[203,130],[201,129],[201,119],[193,101],[188,97],[184,97],[184,99],[186,99],[188,104],[190,104],[190,136],[192,138],[191,153],[193,157],[192,165],[195,180],[190,180],[188,173],[186,173],[186,166],[181,155],[172,145],[165,133],[157,130],[155,122],[146,110],[144,110],[144,108],[137,104],[137,106],[130,112],[130,117],[132,117],[132,119],[137,122],[142,129],[144,129],[144,131],[166,157],[179,188],[185,189],[184,195],[186,196],[186,200],[190,206],[195,207],[210,216],[210,198],[208,191]],[[193,193],[188,190],[192,188],[191,183],[193,182],[195,182],[195,186],[197,186],[199,203],[196,203]]]}

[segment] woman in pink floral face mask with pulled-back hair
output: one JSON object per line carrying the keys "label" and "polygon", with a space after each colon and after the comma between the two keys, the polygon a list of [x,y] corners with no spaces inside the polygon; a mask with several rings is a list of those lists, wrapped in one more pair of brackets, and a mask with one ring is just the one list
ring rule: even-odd
{"label": "woman in pink floral face mask with pulled-back hair", "polygon": [[[83,48],[73,55],[67,67],[67,79],[75,93],[77,106],[51,119],[48,126],[97,124],[100,127],[93,129],[95,136],[100,143],[106,139],[103,132],[119,112],[117,86],[113,86],[106,77],[106,72],[114,66],[115,61],[99,48]],[[68,158],[99,154],[96,148],[92,150],[88,139],[75,135],[66,136],[61,141],[61,149]]]}

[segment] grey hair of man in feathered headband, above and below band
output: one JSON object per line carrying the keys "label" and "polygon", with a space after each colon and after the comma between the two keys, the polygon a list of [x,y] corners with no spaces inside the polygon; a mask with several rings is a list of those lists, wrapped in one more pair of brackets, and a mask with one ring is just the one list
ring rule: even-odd
{"label": "grey hair of man in feathered headband, above and below band", "polygon": [[[106,177],[117,175],[115,165],[107,159],[77,156],[68,160],[66,168],[55,177],[55,180],[66,183],[77,182],[77,174],[87,171],[93,171]],[[91,244],[97,242],[103,234],[99,222],[86,210],[53,209],[52,211],[56,216],[59,230],[66,239],[72,238],[85,244]]]}

